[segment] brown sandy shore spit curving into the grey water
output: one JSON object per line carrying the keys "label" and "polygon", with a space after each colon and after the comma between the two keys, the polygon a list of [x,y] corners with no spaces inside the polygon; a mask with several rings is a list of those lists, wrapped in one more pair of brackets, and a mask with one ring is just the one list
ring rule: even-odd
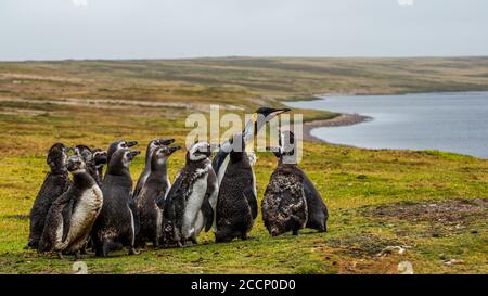
{"label": "brown sandy shore spit curving into the grey water", "polygon": [[350,126],[372,119],[373,118],[369,116],[343,113],[339,116],[331,119],[308,121],[304,124],[304,140],[309,142],[326,142],[322,139],[311,136],[310,131],[314,128]]}

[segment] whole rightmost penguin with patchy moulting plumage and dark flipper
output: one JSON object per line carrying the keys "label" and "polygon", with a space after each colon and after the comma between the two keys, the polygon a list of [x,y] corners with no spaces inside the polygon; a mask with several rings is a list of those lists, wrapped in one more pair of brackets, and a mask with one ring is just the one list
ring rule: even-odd
{"label": "whole rightmost penguin with patchy moulting plumage and dark flipper", "polygon": [[[322,196],[295,159],[295,136],[285,131],[280,137],[279,158],[262,201],[262,219],[271,235],[310,228],[328,230],[329,210]],[[306,205],[303,204],[305,198]]]}

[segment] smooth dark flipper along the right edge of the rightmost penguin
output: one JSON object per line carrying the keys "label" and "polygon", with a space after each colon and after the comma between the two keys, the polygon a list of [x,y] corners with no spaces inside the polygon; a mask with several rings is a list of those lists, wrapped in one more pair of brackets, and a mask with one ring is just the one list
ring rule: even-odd
{"label": "smooth dark flipper along the right edge of the rightmost penguin", "polygon": [[306,227],[319,231],[326,231],[326,221],[329,218],[328,207],[307,175],[304,172],[301,172],[301,175],[304,178],[305,197],[308,205],[308,220]]}

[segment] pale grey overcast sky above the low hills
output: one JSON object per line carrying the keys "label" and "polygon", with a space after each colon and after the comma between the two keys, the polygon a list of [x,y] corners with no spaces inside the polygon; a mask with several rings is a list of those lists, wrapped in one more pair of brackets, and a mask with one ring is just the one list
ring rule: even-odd
{"label": "pale grey overcast sky above the low hills", "polygon": [[0,0],[0,61],[229,55],[488,55],[488,0]]}

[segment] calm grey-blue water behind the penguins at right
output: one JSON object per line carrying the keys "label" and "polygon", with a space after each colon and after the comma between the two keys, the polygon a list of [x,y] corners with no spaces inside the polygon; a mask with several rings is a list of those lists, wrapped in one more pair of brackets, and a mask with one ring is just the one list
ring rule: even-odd
{"label": "calm grey-blue water behind the penguins at right", "polygon": [[488,92],[326,96],[287,105],[373,117],[358,125],[311,131],[331,143],[439,150],[488,158]]}

